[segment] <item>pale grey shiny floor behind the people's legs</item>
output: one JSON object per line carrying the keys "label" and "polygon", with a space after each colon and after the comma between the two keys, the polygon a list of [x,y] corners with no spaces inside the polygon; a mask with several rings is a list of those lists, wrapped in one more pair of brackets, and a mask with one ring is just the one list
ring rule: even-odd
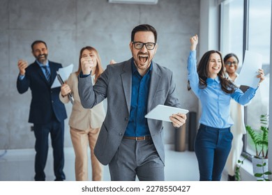
{"label": "pale grey shiny floor behind the people's legs", "polygon": [[[66,180],[75,180],[73,148],[65,148]],[[34,155],[33,149],[0,150],[0,181],[33,181]],[[90,164],[90,163],[89,163]],[[46,180],[54,180],[52,149],[48,153],[45,167]],[[89,169],[91,178],[91,169]],[[167,181],[195,181],[199,179],[197,159],[194,152],[174,151],[174,146],[165,146],[165,180]],[[104,166],[103,180],[109,181],[108,166]]]}

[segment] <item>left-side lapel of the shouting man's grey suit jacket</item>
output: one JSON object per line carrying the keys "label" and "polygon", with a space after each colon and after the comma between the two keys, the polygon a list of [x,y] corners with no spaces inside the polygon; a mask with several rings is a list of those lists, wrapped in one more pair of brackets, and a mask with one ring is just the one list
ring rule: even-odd
{"label": "left-side lapel of the shouting man's grey suit jacket", "polygon": [[132,70],[131,70],[132,59],[123,65],[123,73],[121,74],[123,93],[126,97],[126,105],[128,107],[128,112],[130,112],[131,103],[131,85],[132,85]]}

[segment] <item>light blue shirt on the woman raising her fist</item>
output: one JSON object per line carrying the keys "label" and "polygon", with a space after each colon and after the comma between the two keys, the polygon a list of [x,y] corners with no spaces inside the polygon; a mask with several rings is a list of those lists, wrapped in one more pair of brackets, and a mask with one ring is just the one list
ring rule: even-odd
{"label": "light blue shirt on the woman raising her fist", "polygon": [[199,123],[216,128],[227,128],[233,125],[230,117],[230,100],[233,98],[239,104],[247,104],[254,97],[257,88],[248,88],[245,93],[236,88],[234,93],[225,93],[221,89],[220,80],[208,78],[206,88],[199,88],[197,74],[196,51],[190,51],[188,57],[188,79],[192,91],[202,104],[202,115]]}

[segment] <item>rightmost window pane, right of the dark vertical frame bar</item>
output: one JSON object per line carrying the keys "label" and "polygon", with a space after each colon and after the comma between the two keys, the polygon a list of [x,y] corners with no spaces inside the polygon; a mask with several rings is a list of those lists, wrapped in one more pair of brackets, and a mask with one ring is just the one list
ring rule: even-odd
{"label": "rightmost window pane, right of the dark vertical frame bar", "polygon": [[[248,50],[262,54],[262,68],[266,79],[259,87],[257,94],[248,104],[246,122],[259,129],[259,116],[269,114],[269,68],[270,68],[270,33],[271,33],[271,0],[250,0],[248,3]],[[249,139],[248,139],[249,141]],[[247,143],[248,143],[247,141]],[[252,153],[252,145],[247,144],[245,152]]]}

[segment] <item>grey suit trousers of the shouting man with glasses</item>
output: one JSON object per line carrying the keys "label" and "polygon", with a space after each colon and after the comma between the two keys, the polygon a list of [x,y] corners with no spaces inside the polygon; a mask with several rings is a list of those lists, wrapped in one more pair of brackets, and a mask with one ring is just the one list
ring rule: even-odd
{"label": "grey suit trousers of the shouting man with glasses", "polygon": [[153,141],[123,139],[112,161],[109,173],[112,181],[163,181],[164,164]]}

